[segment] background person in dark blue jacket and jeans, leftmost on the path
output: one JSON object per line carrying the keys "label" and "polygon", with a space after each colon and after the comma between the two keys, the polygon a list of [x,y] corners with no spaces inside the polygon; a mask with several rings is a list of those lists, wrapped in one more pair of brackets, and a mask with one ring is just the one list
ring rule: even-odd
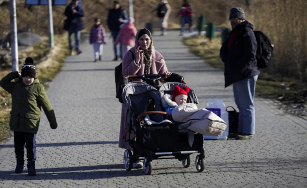
{"label": "background person in dark blue jacket and jeans, leftmost on the path", "polygon": [[80,0],[72,0],[68,6],[66,6],[64,15],[67,19],[64,21],[64,27],[68,31],[68,40],[69,40],[69,50],[70,55],[73,55],[73,43],[72,43],[72,34],[75,34],[76,39],[76,52],[77,54],[82,53],[80,50],[80,31],[84,29],[84,24],[82,17],[84,17],[83,10],[79,5]]}

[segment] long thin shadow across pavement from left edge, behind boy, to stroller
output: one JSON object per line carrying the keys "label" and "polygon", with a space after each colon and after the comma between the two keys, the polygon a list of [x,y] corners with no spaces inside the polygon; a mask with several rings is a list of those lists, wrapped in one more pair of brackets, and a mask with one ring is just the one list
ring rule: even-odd
{"label": "long thin shadow across pavement from left edge, behind boy, to stroller", "polygon": [[[95,144],[118,144],[118,141],[45,143],[45,144],[36,144],[36,147],[79,146],[79,145],[95,145]],[[0,148],[14,148],[14,145],[13,144],[0,145]]]}

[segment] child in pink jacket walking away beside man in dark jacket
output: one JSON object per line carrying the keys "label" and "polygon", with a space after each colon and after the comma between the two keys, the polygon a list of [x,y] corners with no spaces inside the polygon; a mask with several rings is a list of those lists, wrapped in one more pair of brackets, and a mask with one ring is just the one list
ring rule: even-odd
{"label": "child in pink jacket walking away beside man in dark jacket", "polygon": [[134,18],[130,17],[127,23],[123,25],[118,37],[115,40],[115,45],[117,45],[119,42],[121,43],[122,57],[124,57],[125,53],[134,46],[136,33],[137,30],[134,26]]}

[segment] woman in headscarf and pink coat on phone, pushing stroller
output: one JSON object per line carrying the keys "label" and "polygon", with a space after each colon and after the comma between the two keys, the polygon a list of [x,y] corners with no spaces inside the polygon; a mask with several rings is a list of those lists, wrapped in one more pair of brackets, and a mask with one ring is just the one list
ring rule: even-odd
{"label": "woman in headscarf and pink coat on phone, pushing stroller", "polygon": [[[136,34],[136,44],[127,52],[122,60],[122,75],[144,75],[144,74],[165,74],[169,77],[172,73],[168,72],[163,56],[154,49],[151,33],[148,29],[141,29]],[[138,80],[141,81],[141,80]],[[164,83],[164,79],[160,80]],[[132,149],[128,142],[125,142],[127,130],[124,128],[126,119],[126,108],[122,104],[122,115],[119,131],[119,147]],[[130,137],[130,138],[133,138]],[[142,168],[142,163],[137,161],[133,168]]]}

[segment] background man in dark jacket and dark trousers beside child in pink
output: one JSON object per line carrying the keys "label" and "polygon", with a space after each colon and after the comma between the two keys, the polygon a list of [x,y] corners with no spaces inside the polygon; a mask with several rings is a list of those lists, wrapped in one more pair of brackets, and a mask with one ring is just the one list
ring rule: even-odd
{"label": "background man in dark jacket and dark trousers beside child in pink", "polygon": [[122,6],[120,6],[119,1],[113,2],[113,9],[110,9],[107,16],[107,25],[111,31],[114,43],[114,54],[115,57],[113,61],[117,61],[119,57],[118,47],[115,45],[115,39],[117,38],[121,26],[124,20],[127,20],[128,16],[126,11]]}

